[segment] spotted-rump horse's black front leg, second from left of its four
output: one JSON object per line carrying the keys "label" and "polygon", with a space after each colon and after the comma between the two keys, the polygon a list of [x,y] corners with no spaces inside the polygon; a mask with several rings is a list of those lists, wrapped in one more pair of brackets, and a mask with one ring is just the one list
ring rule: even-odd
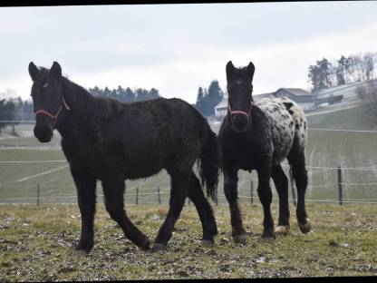
{"label": "spotted-rump horse's black front leg, second from left of its four", "polygon": [[271,162],[262,161],[261,166],[257,168],[256,171],[258,174],[258,196],[260,202],[262,202],[263,212],[265,214],[262,238],[275,239],[274,220],[272,219],[270,207],[272,201],[272,191],[270,187]]}

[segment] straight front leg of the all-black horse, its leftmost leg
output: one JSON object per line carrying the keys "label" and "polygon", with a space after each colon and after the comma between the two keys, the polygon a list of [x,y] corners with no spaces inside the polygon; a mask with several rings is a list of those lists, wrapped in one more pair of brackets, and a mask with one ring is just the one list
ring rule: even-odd
{"label": "straight front leg of the all-black horse, its leftmost leg", "polygon": [[93,247],[96,179],[72,171],[77,188],[77,197],[82,215],[82,234],[75,249],[89,252]]}

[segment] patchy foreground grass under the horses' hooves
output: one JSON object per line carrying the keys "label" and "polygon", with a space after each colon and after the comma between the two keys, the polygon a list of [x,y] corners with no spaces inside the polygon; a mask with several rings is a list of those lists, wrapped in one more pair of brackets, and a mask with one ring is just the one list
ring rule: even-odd
{"label": "patchy foreground grass under the horses' hooves", "polygon": [[[176,224],[168,250],[141,251],[97,204],[94,248],[73,251],[80,237],[77,205],[0,205],[0,281],[117,280],[165,278],[291,278],[377,275],[377,206],[310,204],[313,232],[291,230],[275,241],[260,238],[262,208],[242,205],[250,235],[245,245],[230,235],[227,206],[214,206],[219,234],[214,247],[200,243],[201,225],[193,205]],[[165,205],[127,208],[151,240],[167,213]],[[277,207],[273,205],[276,220]]]}

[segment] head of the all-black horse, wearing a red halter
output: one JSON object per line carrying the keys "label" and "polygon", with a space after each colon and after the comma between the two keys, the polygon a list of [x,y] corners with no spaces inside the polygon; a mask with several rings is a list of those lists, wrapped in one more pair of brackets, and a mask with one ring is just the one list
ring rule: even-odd
{"label": "head of the all-black horse, wearing a red halter", "polygon": [[39,142],[50,142],[59,114],[63,108],[69,110],[63,98],[62,68],[59,63],[53,62],[50,70],[38,69],[31,62],[29,73],[33,80],[34,136]]}

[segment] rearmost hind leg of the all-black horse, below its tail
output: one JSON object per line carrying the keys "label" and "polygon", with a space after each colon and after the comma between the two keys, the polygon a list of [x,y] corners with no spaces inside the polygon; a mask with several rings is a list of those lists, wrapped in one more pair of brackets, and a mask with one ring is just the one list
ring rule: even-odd
{"label": "rearmost hind leg of the all-black horse, below its tail", "polygon": [[200,182],[194,172],[191,174],[189,199],[192,200],[198,210],[198,215],[203,228],[203,244],[213,244],[215,235],[218,235],[218,226],[213,215],[213,210],[204,196]]}

